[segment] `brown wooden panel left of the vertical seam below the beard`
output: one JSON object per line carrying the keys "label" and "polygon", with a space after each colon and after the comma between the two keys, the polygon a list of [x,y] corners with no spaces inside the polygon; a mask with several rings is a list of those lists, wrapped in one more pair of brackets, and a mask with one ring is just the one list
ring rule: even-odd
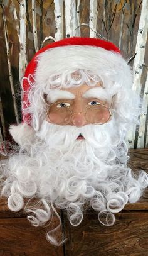
{"label": "brown wooden panel left of the vertical seam below the beard", "polygon": [[[54,226],[59,224],[53,217]],[[0,256],[62,256],[63,247],[46,240],[50,226],[35,228],[26,218],[0,219]]]}

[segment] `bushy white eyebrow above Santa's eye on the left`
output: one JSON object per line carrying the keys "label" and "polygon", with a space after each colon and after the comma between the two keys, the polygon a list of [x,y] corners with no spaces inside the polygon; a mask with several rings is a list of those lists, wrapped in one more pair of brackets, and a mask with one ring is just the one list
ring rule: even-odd
{"label": "bushy white eyebrow above Santa's eye on the left", "polygon": [[47,100],[50,101],[50,103],[54,103],[55,101],[58,101],[58,99],[75,99],[75,94],[66,90],[50,90],[47,95]]}

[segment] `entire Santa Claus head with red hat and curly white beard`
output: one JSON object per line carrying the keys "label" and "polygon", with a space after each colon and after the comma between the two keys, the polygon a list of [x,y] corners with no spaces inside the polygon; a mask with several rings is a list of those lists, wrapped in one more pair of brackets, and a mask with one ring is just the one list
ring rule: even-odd
{"label": "entire Santa Claus head with red hat and curly white beard", "polygon": [[[77,226],[92,206],[113,225],[114,213],[139,200],[148,179],[127,167],[125,134],[139,114],[131,86],[130,67],[110,42],[68,38],[36,54],[23,79],[23,123],[10,128],[19,152],[1,164],[9,209],[24,206],[34,226],[65,209]],[[47,238],[57,244],[52,231]]]}

